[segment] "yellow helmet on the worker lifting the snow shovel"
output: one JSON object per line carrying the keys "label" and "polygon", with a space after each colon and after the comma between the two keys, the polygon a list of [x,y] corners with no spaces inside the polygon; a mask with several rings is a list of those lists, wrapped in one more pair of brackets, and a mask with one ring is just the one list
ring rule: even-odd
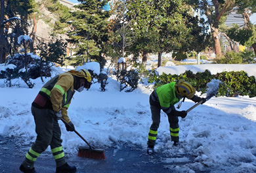
{"label": "yellow helmet on the worker lifting the snow shovel", "polygon": [[177,93],[177,95],[181,95],[182,97],[191,99],[196,93],[196,89],[185,80],[179,80],[175,84],[175,93]]}

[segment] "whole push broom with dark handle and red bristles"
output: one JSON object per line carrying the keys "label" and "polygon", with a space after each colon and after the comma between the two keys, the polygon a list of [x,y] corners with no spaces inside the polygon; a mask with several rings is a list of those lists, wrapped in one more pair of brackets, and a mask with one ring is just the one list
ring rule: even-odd
{"label": "whole push broom with dark handle and red bristles", "polygon": [[[65,119],[63,118],[60,118],[60,119],[65,125],[70,125],[67,121],[65,121]],[[87,142],[87,140],[85,140],[85,138],[83,138],[83,136],[81,136],[81,134],[75,131],[75,129],[74,129],[74,132],[89,146],[89,147],[79,146],[78,153],[77,153],[78,157],[86,157],[90,159],[106,159],[103,149],[94,148],[89,144],[89,142]]]}

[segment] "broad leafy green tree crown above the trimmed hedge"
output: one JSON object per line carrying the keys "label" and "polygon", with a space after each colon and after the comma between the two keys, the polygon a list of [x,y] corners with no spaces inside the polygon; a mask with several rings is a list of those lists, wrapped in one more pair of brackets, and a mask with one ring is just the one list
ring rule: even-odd
{"label": "broad leafy green tree crown above the trimmed hedge", "polygon": [[[210,45],[207,22],[198,20],[189,1],[127,1],[127,15],[134,17],[138,52],[200,52]],[[161,60],[161,59],[160,59]]]}

